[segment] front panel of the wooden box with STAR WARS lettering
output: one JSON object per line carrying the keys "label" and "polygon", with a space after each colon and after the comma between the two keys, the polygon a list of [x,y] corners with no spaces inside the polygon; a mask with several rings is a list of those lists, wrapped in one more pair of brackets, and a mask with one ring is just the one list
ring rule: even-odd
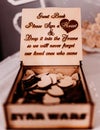
{"label": "front panel of the wooden box with STAR WARS lettering", "polygon": [[8,105],[9,128],[89,128],[90,104]]}

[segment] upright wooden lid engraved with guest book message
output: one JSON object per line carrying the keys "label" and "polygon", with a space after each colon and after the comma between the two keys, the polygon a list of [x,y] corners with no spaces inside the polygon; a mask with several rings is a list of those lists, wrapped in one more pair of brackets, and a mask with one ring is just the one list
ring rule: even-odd
{"label": "upright wooden lid engraved with guest book message", "polygon": [[79,65],[80,8],[22,10],[20,56],[24,65]]}

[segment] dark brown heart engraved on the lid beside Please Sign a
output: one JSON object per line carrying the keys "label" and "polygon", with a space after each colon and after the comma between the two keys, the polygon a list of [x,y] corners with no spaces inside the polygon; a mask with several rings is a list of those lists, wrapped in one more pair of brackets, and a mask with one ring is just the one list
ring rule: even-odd
{"label": "dark brown heart engraved on the lid beside Please Sign a", "polygon": [[78,27],[78,22],[76,20],[62,19],[60,21],[60,26],[67,32],[71,32]]}

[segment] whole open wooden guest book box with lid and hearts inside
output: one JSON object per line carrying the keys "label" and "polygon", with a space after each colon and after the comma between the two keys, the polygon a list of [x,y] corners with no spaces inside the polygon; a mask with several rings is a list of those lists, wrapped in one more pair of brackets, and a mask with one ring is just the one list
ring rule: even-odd
{"label": "whole open wooden guest book box with lid and hearts inside", "polygon": [[4,104],[7,128],[92,128],[79,8],[23,9],[21,67]]}

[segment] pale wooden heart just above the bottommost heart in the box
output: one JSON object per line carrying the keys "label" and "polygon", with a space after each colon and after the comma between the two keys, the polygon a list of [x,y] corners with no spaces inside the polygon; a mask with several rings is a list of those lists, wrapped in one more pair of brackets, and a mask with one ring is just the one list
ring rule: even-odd
{"label": "pale wooden heart just above the bottommost heart in the box", "polygon": [[52,96],[62,96],[64,94],[63,90],[57,85],[51,86],[51,89],[47,91]]}

